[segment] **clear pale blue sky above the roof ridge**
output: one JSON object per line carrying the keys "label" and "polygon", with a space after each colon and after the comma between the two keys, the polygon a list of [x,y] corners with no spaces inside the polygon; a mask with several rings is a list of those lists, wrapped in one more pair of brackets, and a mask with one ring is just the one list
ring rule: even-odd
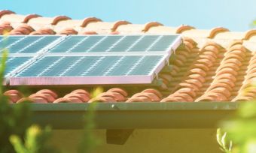
{"label": "clear pale blue sky above the roof ridge", "polygon": [[166,26],[187,24],[196,28],[224,26],[231,31],[245,31],[256,19],[255,0],[0,0],[0,10],[4,9],[44,17],[98,17],[106,22],[158,21]]}

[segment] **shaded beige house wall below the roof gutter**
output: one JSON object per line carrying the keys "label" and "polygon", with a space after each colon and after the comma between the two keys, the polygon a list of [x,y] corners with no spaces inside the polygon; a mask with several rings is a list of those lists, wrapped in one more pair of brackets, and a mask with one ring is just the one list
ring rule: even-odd
{"label": "shaded beige house wall below the roof gutter", "polygon": [[[105,142],[105,131],[96,130],[102,145],[96,153],[221,153],[215,129],[134,130],[125,145]],[[53,144],[65,152],[76,152],[82,130],[53,130]]]}

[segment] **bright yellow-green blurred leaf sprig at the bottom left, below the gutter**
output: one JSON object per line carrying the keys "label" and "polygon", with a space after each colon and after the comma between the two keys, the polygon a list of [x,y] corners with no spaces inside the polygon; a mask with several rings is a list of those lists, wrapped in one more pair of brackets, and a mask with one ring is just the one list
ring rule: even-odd
{"label": "bright yellow-green blurred leaf sprig at the bottom left, below the gutter", "polygon": [[50,145],[51,129],[41,130],[38,125],[32,125],[26,130],[25,142],[17,135],[12,135],[10,141],[17,153],[58,152]]}

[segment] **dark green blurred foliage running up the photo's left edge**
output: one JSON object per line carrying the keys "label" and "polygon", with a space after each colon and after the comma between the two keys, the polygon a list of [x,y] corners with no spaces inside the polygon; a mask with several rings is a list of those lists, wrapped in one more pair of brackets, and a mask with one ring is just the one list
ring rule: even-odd
{"label": "dark green blurred foliage running up the photo's left edge", "polygon": [[5,74],[5,62],[8,56],[8,50],[4,49],[0,67],[0,152],[14,152],[11,143],[8,141],[11,134],[23,136],[25,130],[31,124],[29,118],[31,112],[26,103],[11,106],[8,104],[8,98],[3,95]]}

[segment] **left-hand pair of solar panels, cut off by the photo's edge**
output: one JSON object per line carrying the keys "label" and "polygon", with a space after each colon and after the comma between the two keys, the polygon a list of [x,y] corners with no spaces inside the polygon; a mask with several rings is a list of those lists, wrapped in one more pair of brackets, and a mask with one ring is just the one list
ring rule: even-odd
{"label": "left-hand pair of solar panels, cut off by the photo's edge", "polygon": [[[0,37],[0,53],[8,51],[5,77],[28,65],[32,58],[59,36],[8,36]],[[0,57],[2,60],[2,56]]]}

